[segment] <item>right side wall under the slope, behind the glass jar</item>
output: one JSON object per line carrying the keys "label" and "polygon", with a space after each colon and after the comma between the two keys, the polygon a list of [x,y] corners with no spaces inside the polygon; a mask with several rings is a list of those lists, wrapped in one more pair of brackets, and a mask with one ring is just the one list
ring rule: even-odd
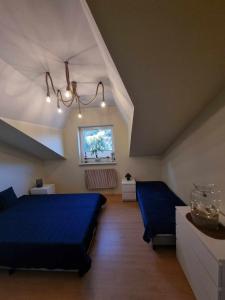
{"label": "right side wall under the slope, behind the glass jar", "polygon": [[165,155],[162,179],[186,202],[193,182],[215,183],[225,204],[225,90]]}

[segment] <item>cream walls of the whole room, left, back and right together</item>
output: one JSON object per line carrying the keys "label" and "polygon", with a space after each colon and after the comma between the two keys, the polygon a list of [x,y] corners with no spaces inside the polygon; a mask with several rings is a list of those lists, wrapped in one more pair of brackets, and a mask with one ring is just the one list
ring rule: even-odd
{"label": "cream walls of the whole room, left, back and right together", "polygon": [[[78,126],[109,124],[114,125],[117,165],[92,168],[115,168],[119,179],[126,172],[137,180],[162,178],[186,202],[190,199],[193,182],[215,183],[225,195],[225,90],[192,122],[162,160],[129,157],[128,129],[115,107],[88,108],[82,120],[72,111],[63,132],[67,158],[64,161],[42,163],[0,145],[0,190],[13,185],[20,195],[28,191],[37,177],[45,175],[45,181],[55,183],[58,192],[86,191],[84,170],[91,167],[79,166]],[[140,134],[145,134],[144,129]],[[114,192],[121,192],[121,186]]]}

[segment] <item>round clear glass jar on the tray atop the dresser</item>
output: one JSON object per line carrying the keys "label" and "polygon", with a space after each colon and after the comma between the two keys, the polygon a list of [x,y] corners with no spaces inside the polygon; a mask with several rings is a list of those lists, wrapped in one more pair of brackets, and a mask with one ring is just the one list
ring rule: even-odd
{"label": "round clear glass jar on the tray atop the dresser", "polygon": [[191,216],[200,227],[216,230],[219,225],[220,191],[214,184],[197,185],[191,193]]}

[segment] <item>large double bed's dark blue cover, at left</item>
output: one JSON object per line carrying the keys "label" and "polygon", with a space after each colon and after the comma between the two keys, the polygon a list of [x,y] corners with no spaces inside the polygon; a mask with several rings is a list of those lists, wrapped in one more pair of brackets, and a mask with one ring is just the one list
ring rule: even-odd
{"label": "large double bed's dark blue cover, at left", "polygon": [[1,209],[0,266],[87,272],[101,194],[22,196]]}

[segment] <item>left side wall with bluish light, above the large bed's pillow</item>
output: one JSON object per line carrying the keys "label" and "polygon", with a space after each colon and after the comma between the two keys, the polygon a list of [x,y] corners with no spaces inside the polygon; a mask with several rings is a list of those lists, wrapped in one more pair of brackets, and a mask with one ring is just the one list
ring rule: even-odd
{"label": "left side wall with bluish light, above the large bed's pillow", "polygon": [[44,178],[43,162],[0,143],[0,191],[12,186],[17,194],[27,194],[36,178]]}

